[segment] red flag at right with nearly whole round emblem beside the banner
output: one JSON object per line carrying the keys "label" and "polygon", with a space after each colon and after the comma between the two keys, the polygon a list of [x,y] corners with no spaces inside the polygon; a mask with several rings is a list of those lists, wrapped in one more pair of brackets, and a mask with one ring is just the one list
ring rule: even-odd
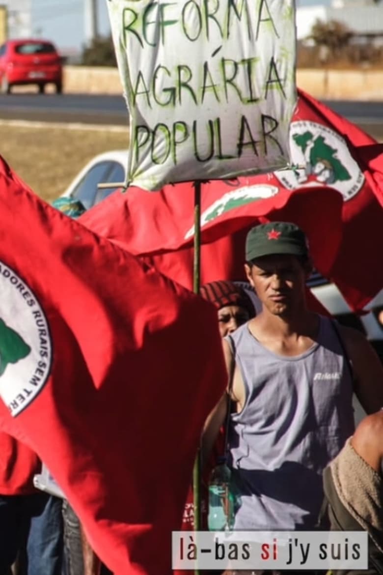
{"label": "red flag at right with nearly whole round emblem beside the banner", "polygon": [[303,91],[291,124],[292,156],[304,164],[281,182],[329,185],[343,196],[343,239],[328,277],[354,310],[383,286],[383,145]]}

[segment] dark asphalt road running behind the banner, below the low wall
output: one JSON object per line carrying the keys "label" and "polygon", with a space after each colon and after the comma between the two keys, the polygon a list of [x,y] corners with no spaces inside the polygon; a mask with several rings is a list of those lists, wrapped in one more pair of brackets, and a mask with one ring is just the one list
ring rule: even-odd
{"label": "dark asphalt road running behind the banner, below the low wall", "polygon": [[[326,104],[366,132],[383,138],[383,101]],[[0,95],[0,118],[126,125],[127,110],[122,96],[24,93]]]}

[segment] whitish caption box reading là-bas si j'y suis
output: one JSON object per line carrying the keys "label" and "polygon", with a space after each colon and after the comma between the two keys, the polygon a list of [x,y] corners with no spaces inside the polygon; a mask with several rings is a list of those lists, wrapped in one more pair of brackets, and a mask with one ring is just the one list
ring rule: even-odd
{"label": "whitish caption box reading l\u00e0-bas si j'y suis", "polygon": [[365,531],[173,531],[173,569],[367,569]]}

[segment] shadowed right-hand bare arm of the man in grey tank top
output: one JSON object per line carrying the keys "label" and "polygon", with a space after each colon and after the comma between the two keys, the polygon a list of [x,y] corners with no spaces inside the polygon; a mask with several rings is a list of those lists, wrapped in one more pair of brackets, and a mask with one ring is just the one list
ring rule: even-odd
{"label": "shadowed right-hand bare arm of the man in grey tank top", "polygon": [[353,366],[354,392],[367,414],[383,407],[383,366],[371,344],[356,329],[339,326]]}

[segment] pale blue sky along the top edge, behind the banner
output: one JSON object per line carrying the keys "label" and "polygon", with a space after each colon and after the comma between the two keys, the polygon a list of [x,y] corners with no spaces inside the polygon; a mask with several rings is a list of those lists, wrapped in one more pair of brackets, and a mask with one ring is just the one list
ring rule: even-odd
{"label": "pale blue sky along the top edge, behind the banner", "polygon": [[[110,31],[106,0],[98,1],[99,32]],[[8,2],[11,5],[11,0]],[[297,6],[330,4],[330,0],[296,0]],[[86,41],[84,0],[32,0],[33,33],[52,40],[61,50],[79,51]]]}

